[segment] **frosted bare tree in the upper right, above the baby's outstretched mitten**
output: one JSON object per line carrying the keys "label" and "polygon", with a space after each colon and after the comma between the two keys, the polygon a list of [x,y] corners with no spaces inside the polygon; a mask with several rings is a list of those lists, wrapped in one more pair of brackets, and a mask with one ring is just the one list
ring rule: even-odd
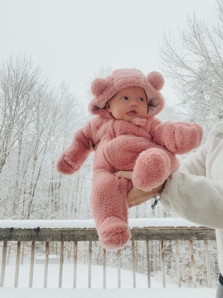
{"label": "frosted bare tree in the upper right, above the baby's outstretched mitten", "polygon": [[188,14],[178,29],[179,44],[164,33],[159,48],[162,70],[188,110],[188,120],[207,128],[223,119],[223,0],[217,1],[217,24]]}

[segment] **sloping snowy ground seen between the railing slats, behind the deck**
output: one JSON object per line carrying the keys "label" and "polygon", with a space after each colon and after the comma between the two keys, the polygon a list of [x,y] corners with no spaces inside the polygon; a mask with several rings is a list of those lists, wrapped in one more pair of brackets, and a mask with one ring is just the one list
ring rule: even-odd
{"label": "sloping snowy ground seen between the railing slats, behind the deck", "polygon": [[[63,265],[62,288],[73,287],[73,270],[72,264]],[[4,287],[14,287],[15,265],[5,266]],[[58,288],[59,265],[48,265],[47,287]],[[44,264],[34,264],[33,269],[33,287],[42,288],[44,278]],[[160,277],[161,278],[161,277]],[[29,264],[19,266],[18,287],[28,288],[29,281]],[[177,288],[170,283],[166,284],[167,288]],[[88,265],[77,264],[77,289],[88,288]],[[92,288],[103,288],[103,267],[92,265]],[[118,287],[118,269],[106,267],[106,288]],[[136,273],[136,287],[147,288],[147,276]],[[121,269],[121,288],[133,288],[132,271]],[[151,277],[151,288],[162,288],[162,281]]]}

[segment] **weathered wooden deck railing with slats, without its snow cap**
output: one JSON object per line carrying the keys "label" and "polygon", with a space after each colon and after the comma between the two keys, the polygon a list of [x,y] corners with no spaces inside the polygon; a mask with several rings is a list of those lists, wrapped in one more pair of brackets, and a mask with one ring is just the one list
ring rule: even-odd
{"label": "weathered wooden deck railing with slats, without its snow cap", "polygon": [[[133,272],[133,287],[136,287],[136,256],[135,256],[135,241],[146,242],[146,254],[147,254],[147,280],[148,288],[151,287],[150,282],[150,253],[149,253],[149,241],[160,241],[161,248],[161,269],[162,269],[162,281],[163,287],[166,287],[165,281],[165,259],[164,259],[164,245],[163,241],[175,241],[176,248],[176,265],[178,276],[178,287],[181,287],[181,274],[180,274],[180,259],[178,240],[187,240],[190,243],[191,254],[191,271],[193,286],[196,287],[196,272],[195,272],[195,260],[193,252],[193,241],[204,241],[205,245],[205,259],[207,269],[208,287],[211,287],[211,272],[210,262],[208,255],[208,240],[215,240],[215,230],[206,227],[145,227],[145,228],[132,228],[131,229],[131,247],[132,247],[132,272]],[[62,287],[62,271],[63,271],[63,258],[64,258],[64,242],[73,241],[74,246],[74,274],[73,274],[73,288],[76,288],[77,279],[77,254],[78,254],[78,241],[89,242],[89,262],[88,262],[88,288],[91,288],[91,266],[92,266],[92,241],[98,241],[98,235],[95,228],[32,228],[32,229],[19,229],[19,228],[0,228],[0,241],[3,241],[2,248],[2,265],[0,286],[4,286],[5,276],[5,263],[7,253],[7,242],[17,242],[16,262],[15,262],[15,279],[14,287],[18,286],[18,272],[20,262],[20,248],[21,241],[31,241],[31,257],[30,257],[30,272],[29,272],[29,287],[32,287],[33,281],[33,267],[34,267],[34,255],[35,255],[35,242],[45,242],[45,270],[44,270],[44,284],[43,287],[47,287],[47,275],[48,275],[48,255],[49,244],[52,241],[60,242],[60,260],[59,260],[59,276],[58,287]],[[121,287],[121,250],[117,251],[118,261],[118,285]],[[106,288],[106,250],[103,249],[103,288]]]}

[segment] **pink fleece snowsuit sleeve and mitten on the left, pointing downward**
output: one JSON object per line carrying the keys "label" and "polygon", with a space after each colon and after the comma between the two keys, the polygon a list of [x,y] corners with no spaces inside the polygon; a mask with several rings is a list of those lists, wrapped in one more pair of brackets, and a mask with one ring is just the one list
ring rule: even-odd
{"label": "pink fleece snowsuit sleeve and mitten on the left, pointing downward", "polygon": [[100,141],[97,132],[102,124],[103,120],[100,117],[95,117],[75,133],[71,145],[61,154],[56,163],[59,173],[72,175],[81,168],[92,152],[88,140],[91,139],[93,144]]}

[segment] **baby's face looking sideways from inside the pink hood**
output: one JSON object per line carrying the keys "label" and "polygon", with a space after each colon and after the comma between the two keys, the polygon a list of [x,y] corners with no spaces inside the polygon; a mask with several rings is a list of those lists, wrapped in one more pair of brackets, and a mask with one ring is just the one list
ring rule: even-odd
{"label": "baby's face looking sideways from inside the pink hood", "polygon": [[145,90],[141,87],[127,87],[118,91],[106,104],[106,109],[115,119],[131,121],[145,118],[148,102]]}

